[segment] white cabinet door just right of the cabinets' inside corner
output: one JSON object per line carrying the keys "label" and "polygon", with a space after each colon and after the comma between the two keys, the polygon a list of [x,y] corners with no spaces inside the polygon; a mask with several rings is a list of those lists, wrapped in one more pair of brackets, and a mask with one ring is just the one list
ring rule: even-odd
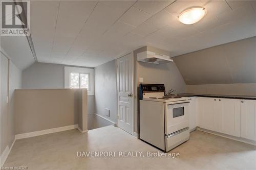
{"label": "white cabinet door just right of the cabinets' inside corner", "polygon": [[200,128],[214,131],[214,98],[198,98],[198,102]]}

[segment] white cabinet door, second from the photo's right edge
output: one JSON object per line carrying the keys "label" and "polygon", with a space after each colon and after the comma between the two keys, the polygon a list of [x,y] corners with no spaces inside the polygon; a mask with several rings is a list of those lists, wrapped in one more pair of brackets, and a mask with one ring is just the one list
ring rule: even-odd
{"label": "white cabinet door, second from the photo's right edge", "polygon": [[218,103],[222,107],[218,132],[240,137],[240,100],[218,99]]}

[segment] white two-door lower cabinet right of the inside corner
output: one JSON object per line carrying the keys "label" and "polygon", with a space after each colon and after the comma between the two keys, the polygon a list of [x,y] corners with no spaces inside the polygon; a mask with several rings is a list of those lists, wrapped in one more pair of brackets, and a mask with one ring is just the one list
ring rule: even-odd
{"label": "white two-door lower cabinet right of the inside corner", "polygon": [[240,101],[236,99],[198,98],[199,126],[240,137]]}

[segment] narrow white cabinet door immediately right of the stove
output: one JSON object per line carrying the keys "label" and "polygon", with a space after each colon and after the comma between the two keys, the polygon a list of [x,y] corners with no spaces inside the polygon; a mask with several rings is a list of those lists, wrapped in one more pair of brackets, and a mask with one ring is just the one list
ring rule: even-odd
{"label": "narrow white cabinet door immediately right of the stove", "polygon": [[189,99],[188,115],[189,115],[189,130],[197,127],[197,97]]}

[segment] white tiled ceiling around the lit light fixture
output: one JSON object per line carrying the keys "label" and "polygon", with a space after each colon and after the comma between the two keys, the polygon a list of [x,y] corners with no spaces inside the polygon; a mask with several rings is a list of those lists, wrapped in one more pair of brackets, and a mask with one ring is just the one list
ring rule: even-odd
{"label": "white tiled ceiling around the lit light fixture", "polygon": [[[207,14],[183,25],[192,6]],[[95,67],[144,45],[174,57],[256,36],[256,1],[32,1],[31,35],[38,62]]]}

